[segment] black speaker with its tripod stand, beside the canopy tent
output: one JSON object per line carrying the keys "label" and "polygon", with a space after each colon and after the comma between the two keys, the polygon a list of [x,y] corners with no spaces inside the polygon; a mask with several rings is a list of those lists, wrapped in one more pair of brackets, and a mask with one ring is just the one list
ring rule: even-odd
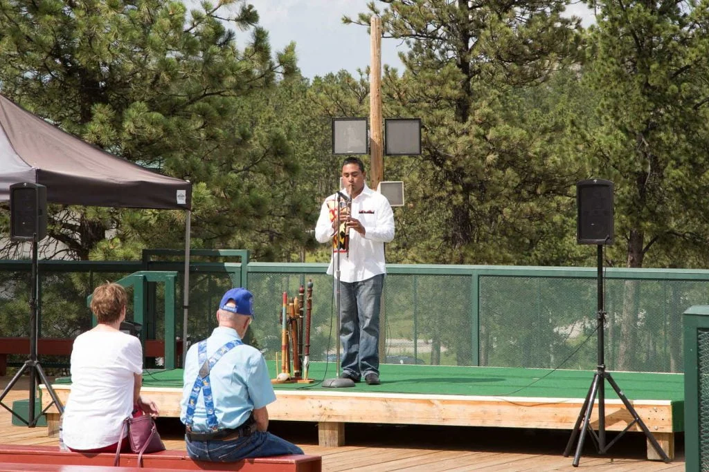
{"label": "black speaker with its tripod stand, beside the canopy tent", "polygon": [[[36,183],[15,183],[10,185],[10,239],[11,241],[32,243],[32,269],[30,282],[30,355],[26,362],[18,369],[17,373],[7,384],[4,391],[0,393],[0,405],[9,410],[16,418],[29,427],[35,427],[37,421],[52,406],[56,405],[59,413],[64,412],[62,403],[57,398],[47,375],[37,359],[37,298],[39,294],[38,284],[38,260],[37,243],[47,236],[47,188]],[[30,374],[30,398],[28,405],[28,420],[15,413],[2,403],[5,396],[20,379],[22,374],[29,370]],[[39,415],[35,415],[35,393],[37,389],[37,376],[40,382],[45,385],[48,393],[52,397],[52,402],[47,405]]]}

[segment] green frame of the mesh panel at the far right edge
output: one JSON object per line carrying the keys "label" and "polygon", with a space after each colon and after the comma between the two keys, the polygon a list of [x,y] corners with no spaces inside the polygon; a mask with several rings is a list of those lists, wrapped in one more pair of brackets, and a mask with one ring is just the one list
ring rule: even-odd
{"label": "green frame of the mesh panel at the far right edge", "polygon": [[[709,306],[691,306],[683,316],[685,470],[709,466]],[[702,428],[703,426],[703,428]]]}

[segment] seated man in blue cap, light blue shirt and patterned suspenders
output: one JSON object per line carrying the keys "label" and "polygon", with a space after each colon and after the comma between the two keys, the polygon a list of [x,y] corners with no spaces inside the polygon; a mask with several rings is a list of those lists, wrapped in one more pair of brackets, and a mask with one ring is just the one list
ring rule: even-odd
{"label": "seated man in blue cap, light blue shirt and patterned suspenders", "polygon": [[192,459],[235,462],[303,454],[267,432],[266,405],[276,395],[261,352],[242,343],[254,316],[253,297],[242,288],[226,292],[217,311],[219,326],[187,351],[180,420]]}

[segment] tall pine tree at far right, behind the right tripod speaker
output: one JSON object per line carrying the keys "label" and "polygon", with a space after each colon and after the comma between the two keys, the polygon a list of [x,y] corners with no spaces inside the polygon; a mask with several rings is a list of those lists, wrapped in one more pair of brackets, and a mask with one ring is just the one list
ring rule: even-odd
{"label": "tall pine tree at far right, behind the right tripod speaker", "polygon": [[591,171],[615,183],[618,265],[705,261],[709,149],[709,2],[605,1],[584,86]]}

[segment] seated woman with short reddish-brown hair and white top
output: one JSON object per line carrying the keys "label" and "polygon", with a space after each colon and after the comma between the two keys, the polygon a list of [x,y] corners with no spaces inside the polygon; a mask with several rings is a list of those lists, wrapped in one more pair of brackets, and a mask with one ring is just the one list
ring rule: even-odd
{"label": "seated woman with short reddish-brown hair and white top", "polygon": [[[120,285],[96,287],[91,311],[99,324],[74,340],[72,390],[62,418],[62,439],[72,451],[115,452],[125,418],[136,410],[157,416],[155,403],[140,398],[140,340],[118,330],[126,302]],[[127,439],[121,451],[130,451]]]}

